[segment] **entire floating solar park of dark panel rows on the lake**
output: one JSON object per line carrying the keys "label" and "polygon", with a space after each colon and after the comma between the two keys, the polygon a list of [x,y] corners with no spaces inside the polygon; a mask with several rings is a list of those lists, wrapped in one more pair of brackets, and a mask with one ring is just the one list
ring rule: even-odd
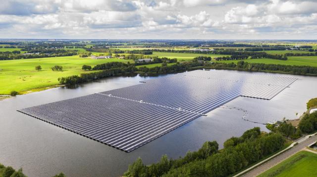
{"label": "entire floating solar park of dark panel rows on the lake", "polygon": [[239,96],[270,100],[295,80],[196,70],[18,111],[130,152]]}

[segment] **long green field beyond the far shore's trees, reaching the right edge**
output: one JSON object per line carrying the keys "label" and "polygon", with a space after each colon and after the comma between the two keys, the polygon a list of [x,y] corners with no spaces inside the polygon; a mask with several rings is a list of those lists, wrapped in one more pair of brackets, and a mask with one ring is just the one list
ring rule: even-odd
{"label": "long green field beyond the far shore's trees, reaching the right edge", "polygon": [[[264,64],[276,64],[276,65],[297,65],[297,66],[311,66],[317,67],[317,56],[309,56],[309,57],[287,57],[288,60],[274,60],[268,58],[260,58],[260,59],[247,59],[243,60],[248,63],[264,63]],[[218,61],[221,63],[237,63],[242,60],[227,60],[227,61]]]}

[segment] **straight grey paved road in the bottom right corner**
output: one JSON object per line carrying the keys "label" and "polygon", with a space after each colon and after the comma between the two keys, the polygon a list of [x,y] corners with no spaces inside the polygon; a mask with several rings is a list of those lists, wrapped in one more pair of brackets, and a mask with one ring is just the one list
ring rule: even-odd
{"label": "straight grey paved road in the bottom right corner", "polygon": [[294,155],[295,153],[301,151],[306,146],[312,144],[313,142],[317,141],[317,135],[308,138],[305,141],[300,142],[299,144],[295,145],[291,149],[277,155],[276,157],[272,158],[271,160],[265,162],[264,164],[254,168],[253,170],[249,171],[248,173],[242,175],[242,177],[256,177],[266,170],[270,169],[271,167],[275,166],[276,164],[280,163],[281,161],[287,159],[288,157]]}

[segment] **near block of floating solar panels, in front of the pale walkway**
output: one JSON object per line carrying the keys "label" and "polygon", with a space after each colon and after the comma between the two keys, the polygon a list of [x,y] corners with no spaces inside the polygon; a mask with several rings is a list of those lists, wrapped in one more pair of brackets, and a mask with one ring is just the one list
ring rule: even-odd
{"label": "near block of floating solar panels, in front of the pale walkway", "polygon": [[102,94],[20,111],[127,152],[200,116]]}

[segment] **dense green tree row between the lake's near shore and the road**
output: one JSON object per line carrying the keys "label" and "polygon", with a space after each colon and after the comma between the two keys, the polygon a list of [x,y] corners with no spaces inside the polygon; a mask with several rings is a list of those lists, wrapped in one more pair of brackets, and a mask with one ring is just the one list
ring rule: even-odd
{"label": "dense green tree row between the lake's near shore and the road", "polygon": [[163,155],[158,163],[146,166],[138,158],[128,168],[125,177],[227,177],[248,165],[280,150],[285,138],[279,133],[261,133],[259,127],[247,130],[241,137],[232,137],[218,150],[218,143],[205,142],[195,152],[183,158],[168,159]]}

